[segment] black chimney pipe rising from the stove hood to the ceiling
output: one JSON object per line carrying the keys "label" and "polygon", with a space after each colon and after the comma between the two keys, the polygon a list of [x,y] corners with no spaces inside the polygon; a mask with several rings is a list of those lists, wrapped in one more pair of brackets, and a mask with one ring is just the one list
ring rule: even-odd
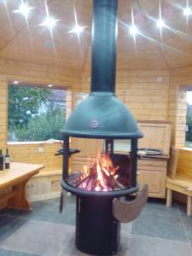
{"label": "black chimney pipe rising from the stove hood to the ceiling", "polygon": [[117,0],[94,0],[91,92],[115,92]]}

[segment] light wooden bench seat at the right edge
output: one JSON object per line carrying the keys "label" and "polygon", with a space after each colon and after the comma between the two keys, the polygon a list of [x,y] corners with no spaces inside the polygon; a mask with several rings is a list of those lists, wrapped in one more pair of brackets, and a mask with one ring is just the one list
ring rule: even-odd
{"label": "light wooden bench seat at the right edge", "polygon": [[192,151],[171,148],[166,178],[166,207],[172,206],[172,191],[187,195],[187,215],[192,212]]}

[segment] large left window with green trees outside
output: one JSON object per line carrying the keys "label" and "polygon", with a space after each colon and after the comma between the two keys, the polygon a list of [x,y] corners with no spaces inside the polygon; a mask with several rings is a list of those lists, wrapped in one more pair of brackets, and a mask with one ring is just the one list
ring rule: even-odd
{"label": "large left window with green trees outside", "polygon": [[61,139],[65,117],[66,90],[9,84],[9,142]]}

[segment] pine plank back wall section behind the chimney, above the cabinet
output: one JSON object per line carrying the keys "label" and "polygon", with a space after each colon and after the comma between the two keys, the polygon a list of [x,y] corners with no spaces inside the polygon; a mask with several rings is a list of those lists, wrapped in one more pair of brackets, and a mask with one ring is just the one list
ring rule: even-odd
{"label": "pine plank back wall section behind the chimney, above the cabinet", "polygon": [[[90,91],[90,73],[83,73],[82,88]],[[136,119],[167,120],[169,71],[118,71],[116,93]]]}

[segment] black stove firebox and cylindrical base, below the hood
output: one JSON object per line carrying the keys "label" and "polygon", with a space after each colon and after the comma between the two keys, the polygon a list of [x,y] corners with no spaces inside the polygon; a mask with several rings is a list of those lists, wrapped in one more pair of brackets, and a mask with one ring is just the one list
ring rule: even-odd
{"label": "black stove firebox and cylindrical base, below the hood", "polygon": [[[113,212],[113,200],[131,195],[138,190],[136,139],[131,140],[131,152],[125,154],[115,154],[113,152],[112,138],[104,139],[104,141],[106,146],[102,154],[107,154],[110,157],[114,169],[118,167],[116,172],[118,185],[116,186],[116,183],[113,183],[113,186],[110,187],[109,184],[106,189],[106,183],[102,183],[103,189],[101,187],[101,190],[97,190],[96,185],[98,186],[98,184],[89,187],[90,176],[87,176],[87,179],[86,177],[80,179],[79,170],[68,175],[68,152],[70,149],[68,148],[68,137],[64,137],[63,180],[61,186],[73,195],[77,195],[76,247],[84,253],[95,255],[113,255],[118,252],[120,221]],[[91,170],[90,167],[90,172]],[[96,175],[96,178],[98,178],[98,173]],[[86,180],[89,182],[86,183]],[[86,186],[79,187],[79,184],[82,185],[83,183]],[[111,189],[112,187],[113,189]],[[145,200],[147,200],[147,197]]]}

